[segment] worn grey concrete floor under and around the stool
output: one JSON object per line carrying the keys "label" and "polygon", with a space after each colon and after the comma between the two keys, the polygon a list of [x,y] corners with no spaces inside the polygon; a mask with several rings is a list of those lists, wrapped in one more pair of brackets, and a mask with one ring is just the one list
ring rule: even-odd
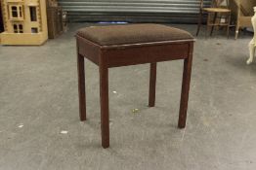
{"label": "worn grey concrete floor under and around the stool", "polygon": [[[252,35],[198,37],[183,130],[177,128],[182,61],[158,64],[150,109],[149,65],[110,69],[110,148],[104,150],[98,67],[91,62],[88,120],[78,119],[73,35],[86,25],[69,25],[41,47],[0,47],[1,170],[256,169],[256,64],[245,63]],[[195,25],[175,26],[195,31]]]}

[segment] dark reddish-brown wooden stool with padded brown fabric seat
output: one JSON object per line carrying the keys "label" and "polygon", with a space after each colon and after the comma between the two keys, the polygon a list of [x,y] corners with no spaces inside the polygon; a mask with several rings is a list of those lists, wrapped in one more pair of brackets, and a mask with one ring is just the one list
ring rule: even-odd
{"label": "dark reddish-brown wooden stool with padded brown fabric seat", "polygon": [[84,57],[99,66],[103,148],[109,147],[108,68],[111,67],[149,63],[149,107],[153,107],[156,63],[184,59],[178,127],[186,126],[194,43],[190,33],[150,23],[91,26],[77,31],[76,43],[80,120],[86,120]]}

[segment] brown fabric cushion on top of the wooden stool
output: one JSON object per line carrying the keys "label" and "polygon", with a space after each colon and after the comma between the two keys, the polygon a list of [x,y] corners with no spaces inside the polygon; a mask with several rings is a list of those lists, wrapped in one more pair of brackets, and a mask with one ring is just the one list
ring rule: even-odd
{"label": "brown fabric cushion on top of the wooden stool", "polygon": [[91,26],[78,30],[77,35],[101,46],[193,39],[187,31],[151,23]]}

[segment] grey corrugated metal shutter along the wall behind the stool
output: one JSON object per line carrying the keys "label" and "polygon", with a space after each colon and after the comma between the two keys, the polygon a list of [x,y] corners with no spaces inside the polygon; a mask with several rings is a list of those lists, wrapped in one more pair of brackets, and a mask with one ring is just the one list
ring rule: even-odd
{"label": "grey corrugated metal shutter along the wall behind the stool", "polygon": [[[205,0],[206,6],[211,0]],[[196,22],[199,0],[59,0],[70,21]]]}

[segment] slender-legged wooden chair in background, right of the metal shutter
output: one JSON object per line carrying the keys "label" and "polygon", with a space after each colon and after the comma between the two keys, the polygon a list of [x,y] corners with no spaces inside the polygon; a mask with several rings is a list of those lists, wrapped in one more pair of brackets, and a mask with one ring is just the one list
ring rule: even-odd
{"label": "slender-legged wooden chair in background, right of the metal shutter", "polygon": [[[221,6],[221,3],[224,0],[212,0],[212,4],[210,8],[204,8],[203,0],[200,0],[200,12],[198,17],[198,25],[196,30],[196,36],[198,36],[201,25],[202,25],[202,16],[203,13],[207,13],[207,25],[206,25],[206,35],[211,28],[210,35],[212,35],[214,26],[226,26],[227,28],[227,37],[230,34],[230,22],[231,22],[231,10],[229,9],[229,0],[225,0],[227,3],[226,7]],[[211,21],[211,16],[213,15],[213,21]],[[221,23],[221,18],[225,18],[226,22]]]}

